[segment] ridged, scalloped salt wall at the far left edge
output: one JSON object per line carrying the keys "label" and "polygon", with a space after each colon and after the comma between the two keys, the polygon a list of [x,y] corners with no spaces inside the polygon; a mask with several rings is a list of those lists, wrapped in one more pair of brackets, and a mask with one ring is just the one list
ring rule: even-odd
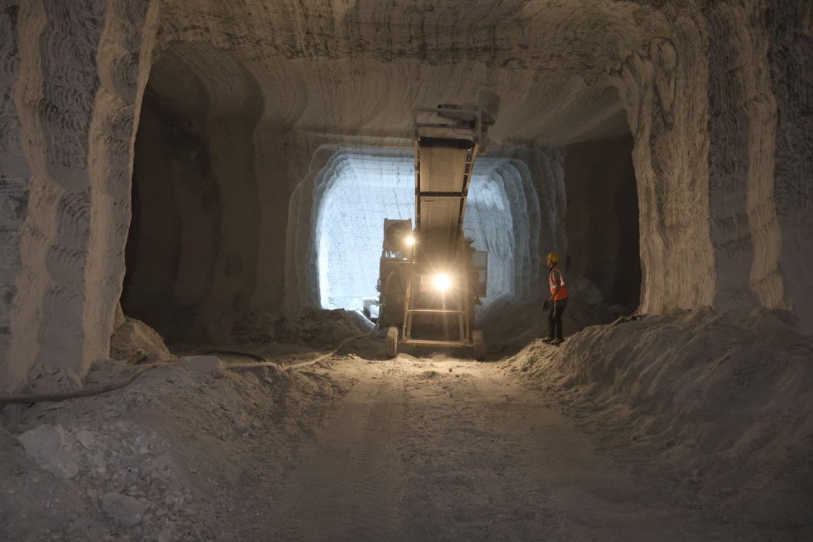
{"label": "ridged, scalloped salt wall at the far left edge", "polygon": [[36,364],[83,374],[108,356],[156,9],[5,2],[2,390]]}

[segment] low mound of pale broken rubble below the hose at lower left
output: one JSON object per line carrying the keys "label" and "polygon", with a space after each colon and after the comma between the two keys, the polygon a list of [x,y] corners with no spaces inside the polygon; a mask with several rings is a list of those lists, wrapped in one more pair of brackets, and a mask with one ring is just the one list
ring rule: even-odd
{"label": "low mound of pale broken rubble below the hose at lower left", "polygon": [[0,540],[230,540],[222,526],[239,530],[246,484],[278,489],[276,468],[259,472],[285,463],[274,441],[306,431],[316,398],[337,392],[313,375],[224,371],[198,356],[116,392],[7,412]]}

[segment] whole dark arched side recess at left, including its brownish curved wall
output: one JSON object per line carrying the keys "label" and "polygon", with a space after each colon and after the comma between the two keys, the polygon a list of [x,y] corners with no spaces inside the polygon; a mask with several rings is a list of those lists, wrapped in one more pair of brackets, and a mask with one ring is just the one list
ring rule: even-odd
{"label": "whole dark arched side recess at left, including its brownish curved wall", "polygon": [[[209,78],[212,63],[230,74],[228,84]],[[211,46],[164,50],[150,72],[121,304],[167,340],[228,338],[230,316],[273,295],[263,274],[273,261],[264,256],[280,238],[269,224],[283,215],[275,205],[285,195],[267,189],[275,177],[263,179],[279,165],[280,145],[258,150],[262,114],[254,76]]]}

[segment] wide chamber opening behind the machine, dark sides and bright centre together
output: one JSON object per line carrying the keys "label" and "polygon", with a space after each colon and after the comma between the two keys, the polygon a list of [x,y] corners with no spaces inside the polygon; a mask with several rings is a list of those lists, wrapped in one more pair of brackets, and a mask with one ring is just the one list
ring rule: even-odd
{"label": "wide chamber opening behind the machine, dark sides and bright centre together", "polygon": [[[189,340],[206,336],[207,326],[219,323],[223,314],[257,307],[278,314],[305,307],[360,308],[361,297],[377,297],[383,219],[411,218],[413,212],[409,142],[311,134],[271,124],[263,117],[259,104],[265,98],[249,72],[233,67],[239,84],[207,86],[207,76],[193,60],[210,53],[206,46],[167,50],[150,76],[134,157],[125,313],[144,319],[170,340]],[[222,52],[211,59],[219,65],[226,61]],[[185,84],[176,88],[170,82],[179,74]],[[477,249],[489,253],[489,296],[481,317],[498,301],[537,301],[544,291],[544,255],[552,249],[572,252],[569,278],[593,281],[608,304],[637,305],[637,242],[614,241],[623,254],[604,254],[603,262],[589,244],[615,228],[613,213],[589,213],[593,232],[572,234],[574,209],[590,205],[581,198],[591,192],[589,186],[578,186],[574,179],[581,174],[566,171],[572,167],[563,157],[577,155],[584,145],[602,148],[624,131],[631,146],[626,111],[615,89],[597,88],[591,95],[595,119],[559,141],[561,152],[502,141],[476,162],[464,229]],[[622,150],[627,158],[629,150]],[[269,155],[285,158],[272,163]],[[285,160],[291,165],[287,172]],[[286,201],[280,197],[286,184],[293,184],[296,167],[307,163],[307,177],[299,177]],[[629,160],[628,166],[631,183],[625,181],[620,198],[636,197]],[[354,206],[356,201],[361,205]],[[269,224],[285,220],[278,210],[286,204],[283,235]],[[637,206],[622,215],[628,219],[624,231],[632,225],[637,239]],[[346,249],[337,248],[342,244]],[[364,257],[356,258],[359,254]],[[634,260],[632,273],[607,263],[619,257]],[[279,296],[269,294],[273,291]]]}

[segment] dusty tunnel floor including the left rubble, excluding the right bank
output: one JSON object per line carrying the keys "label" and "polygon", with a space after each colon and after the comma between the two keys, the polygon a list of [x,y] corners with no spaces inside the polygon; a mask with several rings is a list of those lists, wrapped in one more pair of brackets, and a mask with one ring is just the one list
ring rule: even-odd
{"label": "dusty tunnel floor including the left rubble, excluding the right bank", "polygon": [[33,405],[7,426],[59,435],[33,457],[2,430],[0,539],[803,540],[727,524],[505,364],[382,349]]}

